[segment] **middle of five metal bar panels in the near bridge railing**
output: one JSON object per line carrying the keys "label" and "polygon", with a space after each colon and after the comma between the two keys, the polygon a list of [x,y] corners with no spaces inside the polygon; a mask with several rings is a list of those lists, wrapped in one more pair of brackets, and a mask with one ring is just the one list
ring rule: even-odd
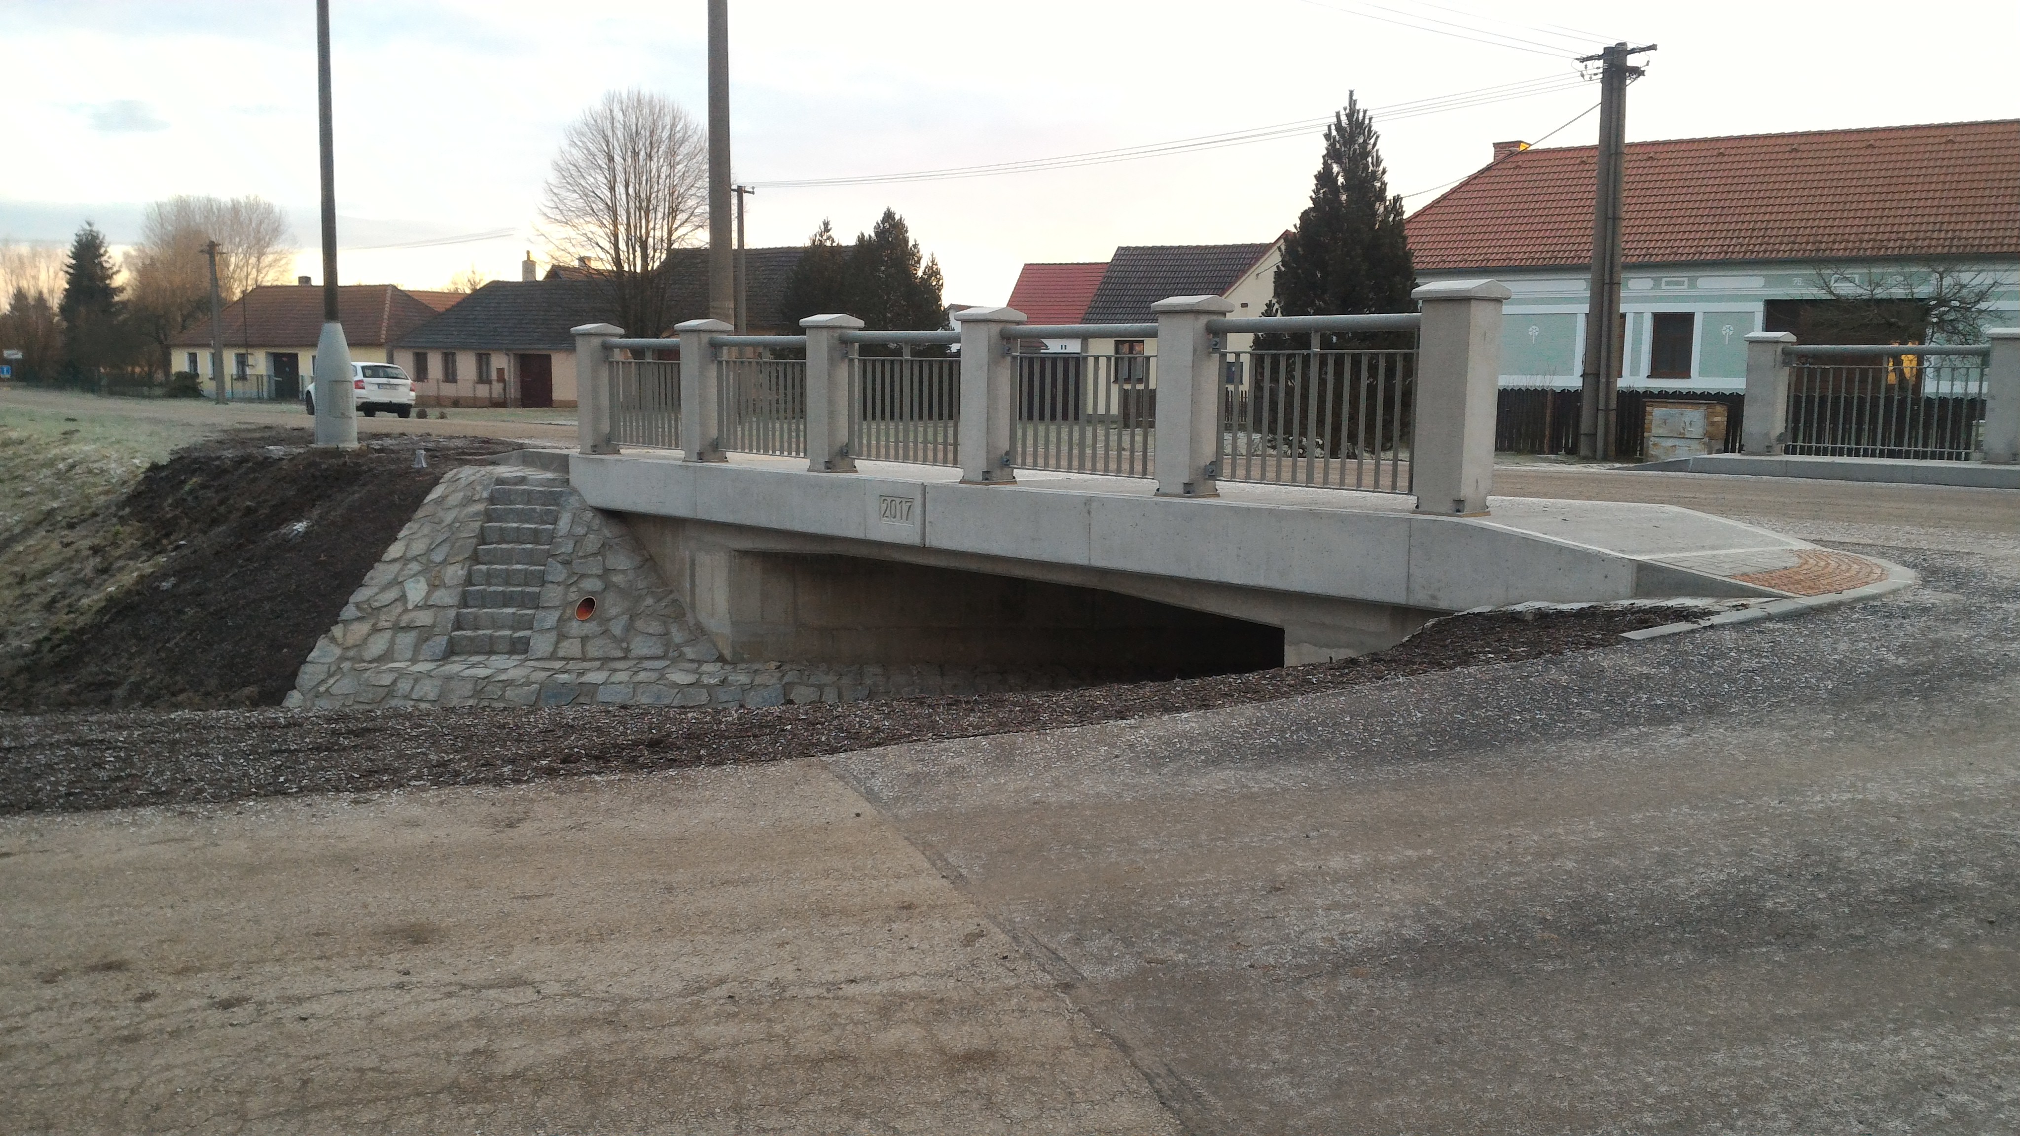
{"label": "middle of five metal bar panels in the near bridge railing", "polygon": [[881,350],[891,348],[865,344],[848,358],[848,453],[869,461],[955,465],[962,358],[915,356],[909,344],[895,356],[867,354]]}

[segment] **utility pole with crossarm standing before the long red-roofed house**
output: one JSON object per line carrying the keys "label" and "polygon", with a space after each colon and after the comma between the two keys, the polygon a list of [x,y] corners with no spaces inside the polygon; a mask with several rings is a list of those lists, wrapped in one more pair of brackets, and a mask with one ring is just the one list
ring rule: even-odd
{"label": "utility pole with crossarm standing before the long red-roofed house", "polygon": [[1614,408],[1620,400],[1620,188],[1626,158],[1628,83],[1642,77],[1630,55],[1654,51],[1616,42],[1580,63],[1600,65],[1600,148],[1592,196],[1592,289],[1586,313],[1586,364],[1580,368],[1580,457],[1614,455]]}

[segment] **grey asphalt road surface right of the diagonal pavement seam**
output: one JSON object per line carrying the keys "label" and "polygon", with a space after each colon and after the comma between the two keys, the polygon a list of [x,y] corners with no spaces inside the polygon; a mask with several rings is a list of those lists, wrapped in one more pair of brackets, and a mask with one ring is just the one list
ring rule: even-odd
{"label": "grey asphalt road surface right of the diagonal pavement seam", "polygon": [[1923,586],[828,764],[1188,1132],[2014,1132],[2020,556],[1828,489]]}

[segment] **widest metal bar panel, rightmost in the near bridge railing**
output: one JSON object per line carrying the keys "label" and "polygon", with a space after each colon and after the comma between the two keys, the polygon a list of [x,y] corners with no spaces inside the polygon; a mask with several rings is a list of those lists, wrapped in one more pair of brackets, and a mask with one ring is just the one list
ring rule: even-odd
{"label": "widest metal bar panel, rightmost in the near bridge railing", "polygon": [[1410,493],[1414,350],[1222,352],[1222,481]]}

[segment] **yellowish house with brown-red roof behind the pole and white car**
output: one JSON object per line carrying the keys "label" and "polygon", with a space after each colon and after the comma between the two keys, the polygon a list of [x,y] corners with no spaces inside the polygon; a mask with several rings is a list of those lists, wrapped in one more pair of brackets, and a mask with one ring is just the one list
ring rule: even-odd
{"label": "yellowish house with brown-red roof behind the pole and white car", "polygon": [[[452,291],[412,291],[396,285],[343,285],[337,321],[356,362],[396,362],[402,338],[461,301]],[[293,285],[257,287],[224,307],[224,368],[232,398],[299,398],[315,374],[315,342],[323,336],[323,289],[309,277]],[[172,356],[210,380],[210,319],[168,342]]]}

